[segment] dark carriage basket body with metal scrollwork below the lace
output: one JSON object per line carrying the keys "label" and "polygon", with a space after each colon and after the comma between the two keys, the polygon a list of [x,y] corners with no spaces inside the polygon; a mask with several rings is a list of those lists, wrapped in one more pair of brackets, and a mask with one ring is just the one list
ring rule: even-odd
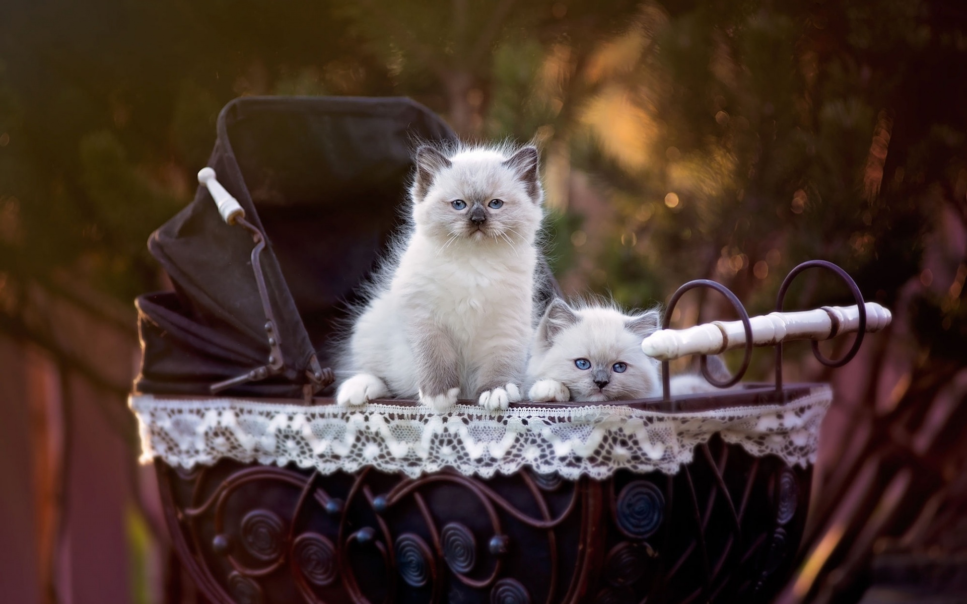
{"label": "dark carriage basket body with metal scrollwork below the lace", "polygon": [[158,468],[179,555],[216,602],[767,601],[808,471],[718,437],[702,452],[675,476],[556,484]]}

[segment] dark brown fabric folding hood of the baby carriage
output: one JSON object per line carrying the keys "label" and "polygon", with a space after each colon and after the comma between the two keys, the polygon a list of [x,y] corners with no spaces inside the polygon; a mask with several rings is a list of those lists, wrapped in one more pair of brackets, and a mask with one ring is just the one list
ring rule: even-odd
{"label": "dark brown fabric folding hood of the baby carriage", "polygon": [[[454,132],[407,99],[257,98],[229,102],[208,165],[265,234],[261,252],[283,366],[235,394],[299,396],[346,301],[400,222],[414,142]],[[207,188],[152,234],[174,292],[138,298],[143,356],[136,391],[208,393],[265,365],[266,313],[252,237],[226,224]]]}

